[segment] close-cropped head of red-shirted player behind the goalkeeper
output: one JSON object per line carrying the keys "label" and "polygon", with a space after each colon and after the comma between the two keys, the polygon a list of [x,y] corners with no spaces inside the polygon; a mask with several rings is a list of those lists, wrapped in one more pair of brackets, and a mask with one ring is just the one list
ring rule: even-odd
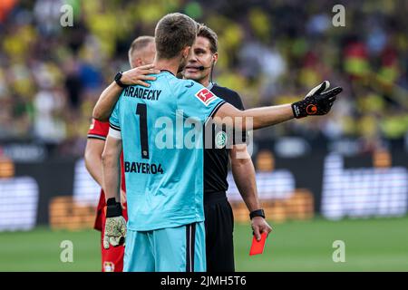
{"label": "close-cropped head of red-shirted player behind the goalkeeper", "polygon": [[153,36],[139,36],[131,43],[129,63],[131,68],[153,63],[156,45]]}

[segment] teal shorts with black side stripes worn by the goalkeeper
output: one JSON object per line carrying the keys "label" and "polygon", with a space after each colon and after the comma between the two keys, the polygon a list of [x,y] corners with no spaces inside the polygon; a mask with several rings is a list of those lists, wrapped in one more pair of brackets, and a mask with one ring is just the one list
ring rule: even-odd
{"label": "teal shorts with black side stripes worn by the goalkeeper", "polygon": [[126,233],[123,272],[205,272],[204,222]]}

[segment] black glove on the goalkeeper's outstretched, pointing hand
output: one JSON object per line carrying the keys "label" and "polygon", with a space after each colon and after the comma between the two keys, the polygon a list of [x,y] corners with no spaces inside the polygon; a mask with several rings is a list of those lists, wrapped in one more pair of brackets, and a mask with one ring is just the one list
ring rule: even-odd
{"label": "black glove on the goalkeeper's outstretched, pointing hand", "polygon": [[343,91],[340,87],[335,87],[330,91],[325,91],[330,86],[330,82],[320,83],[316,88],[306,94],[304,100],[294,102],[292,110],[295,118],[303,118],[309,115],[325,115],[332,108],[335,96]]}

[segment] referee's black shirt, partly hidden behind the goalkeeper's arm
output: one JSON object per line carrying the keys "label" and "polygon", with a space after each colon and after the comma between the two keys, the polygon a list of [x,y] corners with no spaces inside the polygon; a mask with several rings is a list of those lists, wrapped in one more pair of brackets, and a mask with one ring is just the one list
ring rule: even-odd
{"label": "referee's black shirt, partly hidden behind the goalkeeper's arm", "polygon": [[[210,85],[209,89],[238,110],[245,110],[238,92],[220,87],[217,84],[212,87]],[[227,191],[228,189],[228,149],[226,147],[217,148],[214,140],[216,137],[215,131],[213,131],[212,135],[211,149],[204,150],[204,195]],[[245,135],[243,135],[242,140],[245,141]]]}

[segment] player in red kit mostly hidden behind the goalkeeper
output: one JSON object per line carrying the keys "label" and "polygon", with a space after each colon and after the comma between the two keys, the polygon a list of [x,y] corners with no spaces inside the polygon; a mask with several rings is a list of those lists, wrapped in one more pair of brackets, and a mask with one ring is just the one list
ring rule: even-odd
{"label": "player in red kit mostly hidden behind the goalkeeper", "polygon": [[[123,73],[122,79],[126,81],[126,78],[132,80],[139,80],[140,84],[143,84],[145,80],[153,80],[154,77],[147,76],[150,73],[160,73],[152,70],[151,65],[154,59],[155,47],[154,38],[151,36],[138,37],[131,43],[131,49],[129,50],[129,62],[131,63],[132,70],[126,74]],[[121,90],[121,87],[112,88]],[[121,272],[123,270],[123,256],[124,247],[109,247],[109,249],[103,248],[103,232],[105,229],[106,219],[106,201],[103,192],[103,180],[102,180],[102,151],[105,145],[106,136],[109,131],[109,122],[101,122],[92,120],[90,130],[88,131],[88,141],[85,149],[85,165],[86,169],[92,175],[92,178],[101,186],[101,197],[99,198],[99,204],[96,213],[96,220],[94,228],[101,231],[101,248],[102,248],[102,272]],[[124,179],[123,169],[123,153],[121,154],[121,206],[123,217],[127,220],[126,210],[126,186]]]}

